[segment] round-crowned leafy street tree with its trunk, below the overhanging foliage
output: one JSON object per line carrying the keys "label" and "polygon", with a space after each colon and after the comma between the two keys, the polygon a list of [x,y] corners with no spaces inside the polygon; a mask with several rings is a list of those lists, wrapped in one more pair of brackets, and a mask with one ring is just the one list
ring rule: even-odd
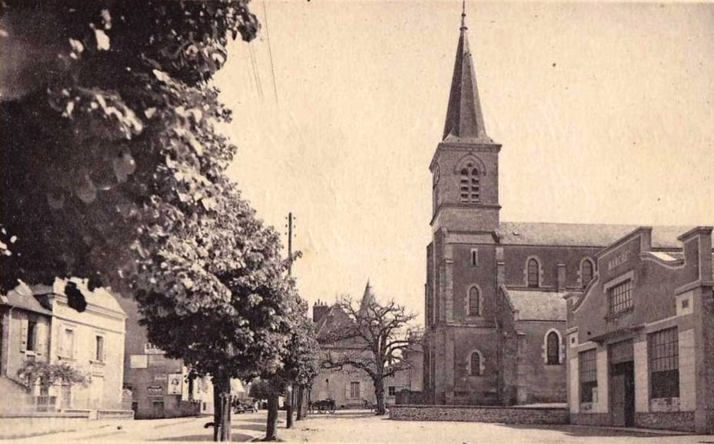
{"label": "round-crowned leafy street tree with its trunk, below the overhanging foliage", "polygon": [[231,378],[272,373],[287,354],[298,296],[278,234],[228,183],[210,213],[146,236],[157,247],[139,263],[141,323],[169,358],[212,376],[214,439],[230,440]]}

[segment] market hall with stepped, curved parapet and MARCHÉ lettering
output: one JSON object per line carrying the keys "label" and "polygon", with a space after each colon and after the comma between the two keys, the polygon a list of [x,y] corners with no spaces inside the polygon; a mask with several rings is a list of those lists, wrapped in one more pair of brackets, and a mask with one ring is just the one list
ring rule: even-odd
{"label": "market hall with stepped, curved parapet and MARCH\u00c9 lettering", "polygon": [[711,227],[653,248],[641,227],[567,296],[570,422],[714,433]]}

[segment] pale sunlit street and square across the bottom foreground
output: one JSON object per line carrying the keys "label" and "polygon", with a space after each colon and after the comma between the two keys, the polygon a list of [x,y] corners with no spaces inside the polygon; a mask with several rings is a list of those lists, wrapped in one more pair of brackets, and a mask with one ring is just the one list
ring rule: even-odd
{"label": "pale sunlit street and square across the bottom foreground", "polygon": [[[309,415],[286,430],[284,412],[278,438],[288,443],[628,443],[710,444],[708,435],[653,433],[643,430],[590,428],[574,425],[503,425],[488,423],[409,422],[377,417],[368,410],[343,410],[333,415]],[[211,420],[173,418],[162,420],[105,421],[97,428],[14,440],[16,443],[206,443]],[[233,415],[233,442],[259,440],[265,435],[266,412]],[[121,428],[119,428],[121,427]]]}

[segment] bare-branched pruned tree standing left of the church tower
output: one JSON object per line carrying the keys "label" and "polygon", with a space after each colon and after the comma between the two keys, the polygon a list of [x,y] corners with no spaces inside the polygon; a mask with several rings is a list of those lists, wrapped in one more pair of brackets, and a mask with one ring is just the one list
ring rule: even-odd
{"label": "bare-branched pruned tree standing left of the church tower", "polygon": [[[339,323],[319,338],[325,356],[323,368],[343,368],[351,365],[363,370],[374,384],[377,414],[384,415],[384,380],[398,371],[411,368],[405,352],[414,350],[420,335],[408,330],[408,323],[416,318],[394,301],[382,306],[374,299],[356,307],[343,301],[341,309],[349,321]],[[341,350],[341,343],[350,348]]]}

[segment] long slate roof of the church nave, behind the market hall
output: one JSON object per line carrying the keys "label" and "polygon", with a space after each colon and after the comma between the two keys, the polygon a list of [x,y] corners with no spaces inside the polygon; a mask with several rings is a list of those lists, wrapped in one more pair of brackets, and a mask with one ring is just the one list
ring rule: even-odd
{"label": "long slate roof of the church nave, behind the market hall", "polygon": [[[638,225],[610,225],[605,223],[540,223],[501,222],[498,234],[505,245],[591,246],[606,247]],[[677,236],[693,226],[654,226],[653,248],[682,248]]]}

